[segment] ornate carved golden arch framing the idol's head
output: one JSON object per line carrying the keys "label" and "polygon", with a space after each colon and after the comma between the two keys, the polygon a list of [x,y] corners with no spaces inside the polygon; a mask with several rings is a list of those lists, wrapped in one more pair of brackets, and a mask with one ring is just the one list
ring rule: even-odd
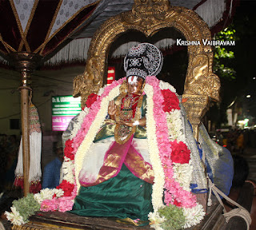
{"label": "ornate carved golden arch framing the idol's head", "polygon": [[109,18],[94,34],[88,50],[86,69],[74,79],[74,97],[82,97],[82,105],[90,93],[102,87],[110,44],[128,30],[138,30],[147,37],[158,30],[174,27],[186,41],[199,41],[198,46],[187,46],[189,63],[186,73],[183,105],[198,136],[198,125],[207,110],[209,98],[218,101],[220,81],[212,72],[214,54],[211,46],[203,42],[211,40],[206,22],[193,10],[170,6],[168,0],[134,0],[132,10]]}

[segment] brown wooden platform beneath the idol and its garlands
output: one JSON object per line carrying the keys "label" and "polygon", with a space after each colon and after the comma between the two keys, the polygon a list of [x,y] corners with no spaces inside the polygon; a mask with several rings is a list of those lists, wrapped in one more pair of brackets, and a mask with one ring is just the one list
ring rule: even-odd
{"label": "brown wooden platform beneath the idol and its garlands", "polygon": [[[194,226],[194,230],[212,230],[220,229],[218,225],[222,225],[225,221],[222,217],[222,206],[215,200],[214,205],[207,211],[206,217],[202,223]],[[153,229],[150,226],[136,227],[132,224],[118,223],[114,219],[103,217],[86,217],[78,216],[69,212],[37,212],[36,215],[30,217],[30,222],[22,226],[14,225],[13,230],[66,230],[66,229],[124,229],[124,230],[146,230]]]}

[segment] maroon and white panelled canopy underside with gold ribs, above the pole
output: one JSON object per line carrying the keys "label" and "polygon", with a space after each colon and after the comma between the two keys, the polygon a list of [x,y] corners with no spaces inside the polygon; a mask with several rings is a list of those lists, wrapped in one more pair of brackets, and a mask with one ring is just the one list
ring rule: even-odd
{"label": "maroon and white panelled canopy underside with gold ribs, above the pole", "polygon": [[99,1],[0,2],[0,51],[46,56],[85,22]]}

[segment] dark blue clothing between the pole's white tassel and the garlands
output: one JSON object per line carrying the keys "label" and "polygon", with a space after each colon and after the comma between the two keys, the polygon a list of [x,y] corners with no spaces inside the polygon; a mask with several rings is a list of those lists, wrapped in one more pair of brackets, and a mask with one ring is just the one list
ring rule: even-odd
{"label": "dark blue clothing between the pole's white tassel and the garlands", "polygon": [[42,188],[56,188],[59,184],[62,161],[56,157],[48,163],[42,175]]}

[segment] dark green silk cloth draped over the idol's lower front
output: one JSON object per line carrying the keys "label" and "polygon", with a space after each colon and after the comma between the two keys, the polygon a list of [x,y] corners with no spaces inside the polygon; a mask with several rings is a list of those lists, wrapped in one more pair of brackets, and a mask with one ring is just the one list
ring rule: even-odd
{"label": "dark green silk cloth draped over the idol's lower front", "polygon": [[152,184],[134,176],[123,164],[118,175],[110,180],[81,187],[70,212],[79,216],[129,217],[146,221],[148,213],[153,212],[151,194]]}

